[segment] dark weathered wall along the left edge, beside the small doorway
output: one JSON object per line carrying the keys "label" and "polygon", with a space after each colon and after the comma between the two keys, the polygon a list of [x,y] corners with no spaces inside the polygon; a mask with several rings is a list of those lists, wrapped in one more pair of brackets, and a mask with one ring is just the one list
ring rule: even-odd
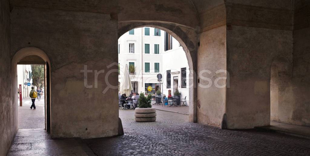
{"label": "dark weathered wall along the left edge, beside the small doorway", "polygon": [[7,0],[0,1],[0,155],[6,155],[17,132],[17,105],[11,88],[10,57],[10,6]]}

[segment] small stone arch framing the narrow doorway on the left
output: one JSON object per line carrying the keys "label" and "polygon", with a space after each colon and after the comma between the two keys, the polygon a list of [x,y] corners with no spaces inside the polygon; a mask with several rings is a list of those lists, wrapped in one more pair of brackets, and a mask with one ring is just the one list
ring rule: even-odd
{"label": "small stone arch framing the narrow doorway on the left", "polygon": [[[44,51],[42,51],[39,48],[36,47],[25,47],[20,49],[19,51],[17,51],[15,53],[15,55],[13,56],[12,62],[11,62],[11,73],[12,73],[12,78],[13,80],[11,81],[12,84],[12,88],[17,88],[17,64],[19,64],[19,62],[21,60],[23,60],[23,58],[29,58],[31,59],[31,57],[38,57],[39,59],[42,59],[43,62],[38,61],[38,59],[34,58],[33,60],[29,60],[27,61],[27,64],[42,64],[44,65],[44,71],[45,71],[45,128],[47,130],[47,132],[51,132],[51,68],[50,68],[50,60],[48,58],[48,56],[46,55],[46,53]],[[14,97],[17,97],[17,92],[15,92],[14,89],[12,89],[12,94],[14,95]],[[16,98],[14,98],[13,101],[16,105],[17,105],[17,100]]]}

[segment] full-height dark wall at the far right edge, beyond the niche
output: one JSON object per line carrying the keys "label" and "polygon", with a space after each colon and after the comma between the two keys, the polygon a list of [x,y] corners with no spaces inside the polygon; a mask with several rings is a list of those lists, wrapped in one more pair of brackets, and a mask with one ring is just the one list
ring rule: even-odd
{"label": "full-height dark wall at the far right edge, beyond the niche", "polygon": [[310,126],[310,1],[294,1],[293,98],[286,122]]}

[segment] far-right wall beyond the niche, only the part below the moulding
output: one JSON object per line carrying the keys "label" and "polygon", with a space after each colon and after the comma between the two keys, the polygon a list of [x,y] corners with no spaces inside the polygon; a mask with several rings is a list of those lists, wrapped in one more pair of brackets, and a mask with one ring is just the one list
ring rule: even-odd
{"label": "far-right wall beyond the niche, only the part below the moulding", "polygon": [[294,30],[293,98],[285,122],[310,126],[310,27]]}

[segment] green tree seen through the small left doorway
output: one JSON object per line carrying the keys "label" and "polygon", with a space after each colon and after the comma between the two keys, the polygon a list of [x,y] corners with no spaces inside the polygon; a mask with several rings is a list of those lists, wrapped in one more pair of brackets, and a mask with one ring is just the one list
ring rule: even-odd
{"label": "green tree seen through the small left doorway", "polygon": [[38,88],[44,86],[44,67],[43,65],[31,65],[32,83]]}

